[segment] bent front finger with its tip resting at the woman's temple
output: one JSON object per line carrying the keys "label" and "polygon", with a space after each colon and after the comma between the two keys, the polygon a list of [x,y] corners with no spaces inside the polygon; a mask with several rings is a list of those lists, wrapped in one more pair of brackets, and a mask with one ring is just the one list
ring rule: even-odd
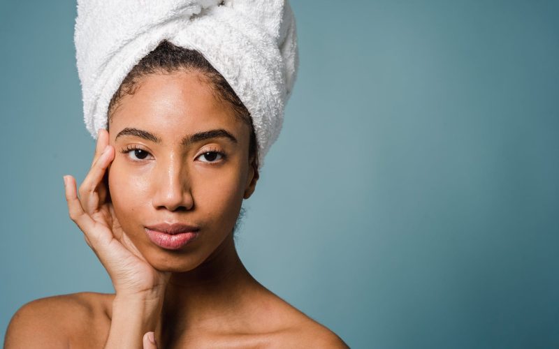
{"label": "bent front finger with its tip resting at the woman's temple", "polygon": [[[99,157],[80,186],[79,192],[82,207],[88,214],[93,214],[99,209],[101,197],[103,200],[106,198],[106,188],[99,187],[105,185],[103,183],[103,176],[105,175],[110,161],[114,158],[114,155],[114,148],[107,145],[101,154],[99,154]],[[101,195],[99,195],[99,192],[101,192]]]}

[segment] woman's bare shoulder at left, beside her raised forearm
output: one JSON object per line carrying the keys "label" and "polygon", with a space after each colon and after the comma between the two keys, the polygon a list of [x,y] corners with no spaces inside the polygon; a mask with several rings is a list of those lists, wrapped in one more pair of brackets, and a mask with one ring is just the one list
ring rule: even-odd
{"label": "woman's bare shoulder at left, beside her raised forearm", "polygon": [[5,348],[61,348],[85,346],[87,342],[97,344],[91,343],[88,334],[92,330],[103,331],[106,320],[110,326],[107,318],[110,299],[111,295],[108,294],[78,292],[28,302],[11,318],[6,330]]}

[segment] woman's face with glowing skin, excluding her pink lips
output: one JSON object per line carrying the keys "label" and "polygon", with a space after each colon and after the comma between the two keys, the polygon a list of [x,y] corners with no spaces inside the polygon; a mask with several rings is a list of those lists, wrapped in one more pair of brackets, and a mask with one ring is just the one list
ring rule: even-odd
{"label": "woman's face with glowing skin, excluding her pink lips", "polygon": [[[201,73],[180,71],[142,77],[120,100],[109,135],[109,191],[125,234],[156,269],[194,269],[231,234],[256,186],[249,126]],[[198,236],[178,249],[158,246],[145,228],[161,223],[195,225]]]}

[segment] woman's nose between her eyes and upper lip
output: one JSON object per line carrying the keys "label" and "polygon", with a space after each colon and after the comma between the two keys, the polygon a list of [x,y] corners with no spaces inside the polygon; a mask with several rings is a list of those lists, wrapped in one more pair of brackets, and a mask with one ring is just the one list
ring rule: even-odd
{"label": "woman's nose between her eyes and upper lip", "polygon": [[185,211],[194,207],[187,169],[180,161],[171,159],[161,166],[153,181],[156,190],[152,202],[156,209]]}

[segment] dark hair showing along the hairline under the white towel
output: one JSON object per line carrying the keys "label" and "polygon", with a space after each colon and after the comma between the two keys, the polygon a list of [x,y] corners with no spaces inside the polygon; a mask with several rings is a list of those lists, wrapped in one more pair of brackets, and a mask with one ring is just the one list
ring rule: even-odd
{"label": "dark hair showing along the hairline under the white towel", "polygon": [[110,99],[107,112],[107,126],[110,124],[112,114],[119,106],[119,101],[125,94],[134,94],[138,87],[140,77],[154,73],[173,73],[179,70],[197,70],[208,79],[212,85],[215,97],[231,105],[233,114],[248,126],[250,126],[249,159],[252,159],[254,170],[258,172],[258,147],[256,146],[256,134],[252,117],[247,107],[240,101],[231,85],[215,68],[196,50],[173,45],[168,40],[161,43],[147,56],[143,57],[136,66],[124,77],[122,84]]}

